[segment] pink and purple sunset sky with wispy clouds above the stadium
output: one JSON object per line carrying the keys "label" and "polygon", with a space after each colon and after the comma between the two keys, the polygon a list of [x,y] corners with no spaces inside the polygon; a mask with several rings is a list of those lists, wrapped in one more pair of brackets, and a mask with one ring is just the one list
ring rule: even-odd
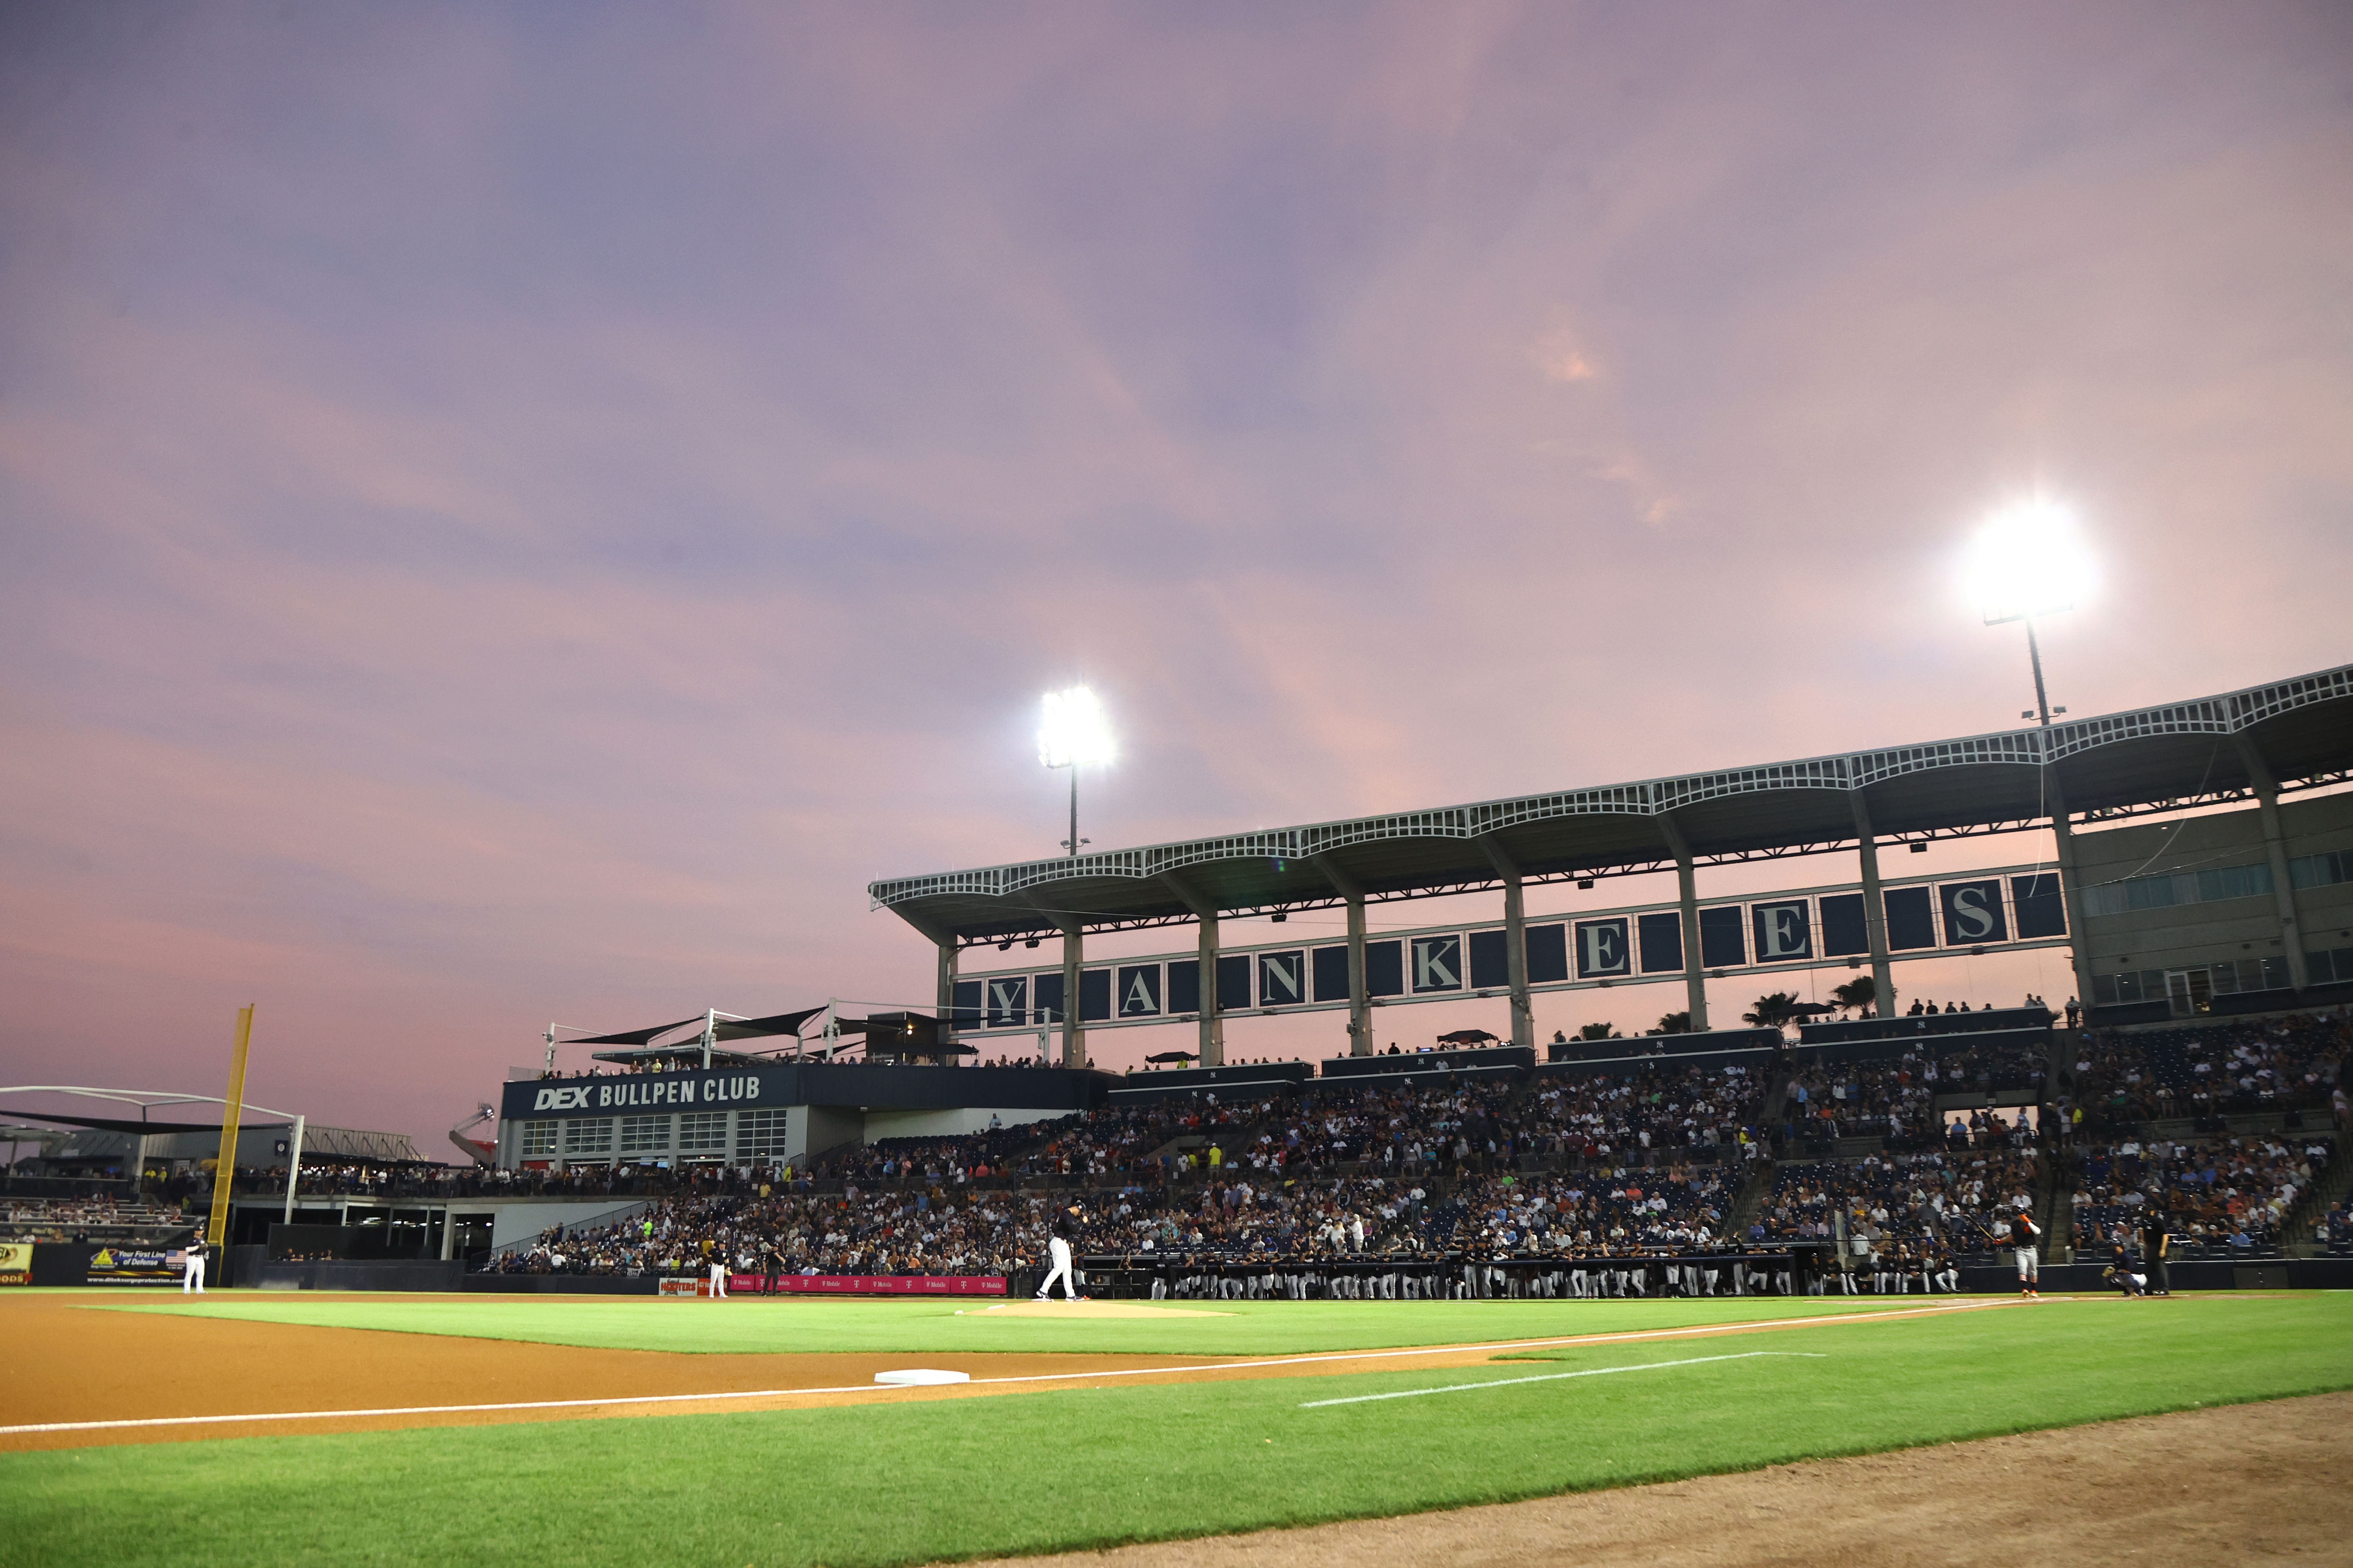
{"label": "pink and purple sunset sky with wispy clouds above the stadium", "polygon": [[927,1001],[1073,682],[1096,846],[2002,729],[2021,496],[2054,703],[2344,663],[2348,284],[2341,5],[9,5],[0,1077]]}

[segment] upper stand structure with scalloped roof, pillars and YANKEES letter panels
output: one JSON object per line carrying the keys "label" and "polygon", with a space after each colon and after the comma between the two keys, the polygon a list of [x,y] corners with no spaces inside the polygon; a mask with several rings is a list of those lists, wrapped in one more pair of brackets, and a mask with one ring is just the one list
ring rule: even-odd
{"label": "upper stand structure with scalloped roof, pillars and YANKEES letter panels", "polygon": [[[2066,945],[2075,994],[2101,1023],[2337,999],[2353,980],[2353,668],[2047,729],[1812,757],[1518,799],[1273,827],[1179,844],[995,865],[868,886],[936,950],[936,1006],[962,1034],[1186,1020],[1202,1065],[1224,1063],[1238,1013],[1348,1013],[1348,1051],[1374,1051],[1372,1009],[1508,999],[1511,1044],[1534,1046],[1537,990],[1682,983],[1708,1027],[1706,980],[1809,966],[1873,971],[1894,1001],[1908,957]],[[2106,823],[2217,806],[2191,825]],[[1882,879],[1880,846],[2047,827],[2057,863],[1969,877]],[[1852,851],[1857,884],[1704,900],[1701,867]],[[1673,905],[1529,924],[1525,889],[1678,875]],[[1501,922],[1384,933],[1369,903],[1501,893]],[[2212,903],[2191,922],[2158,910]],[[1341,907],[1344,945],[1228,952],[1219,922]],[[1089,933],[1193,924],[1191,954],[1087,964]],[[967,952],[1061,938],[1061,966],[962,973]],[[2346,990],[2353,997],[2353,987]],[[2158,1009],[2158,1013],[2148,1011]],[[1892,1009],[1889,1009],[1892,1011]]]}

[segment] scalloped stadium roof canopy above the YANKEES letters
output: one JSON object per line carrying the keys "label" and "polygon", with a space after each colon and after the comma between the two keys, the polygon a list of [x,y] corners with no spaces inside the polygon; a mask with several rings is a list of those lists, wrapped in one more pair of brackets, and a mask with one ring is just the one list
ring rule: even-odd
{"label": "scalloped stadium roof canopy above the YANKEES letters", "polygon": [[2082,818],[2245,799],[2268,769],[2282,790],[2353,776],[2353,665],[2221,696],[1960,741],[1769,762],[1266,827],[969,872],[868,884],[875,907],[939,943],[998,943],[1066,926],[1176,924],[1207,910],[1266,914],[1365,898],[1428,898],[1529,882],[1722,865],[1854,844],[1857,804],[1882,842],[2009,832],[2054,804]]}

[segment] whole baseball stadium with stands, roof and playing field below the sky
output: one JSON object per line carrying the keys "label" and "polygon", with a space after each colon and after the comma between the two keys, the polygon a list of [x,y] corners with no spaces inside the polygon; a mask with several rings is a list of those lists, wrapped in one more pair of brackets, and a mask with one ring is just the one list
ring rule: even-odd
{"label": "whole baseball stadium with stands, roof and playing field below the sky", "polygon": [[925,1004],[551,1027],[461,1164],[12,1086],[0,1561],[2344,1561],[2348,780],[2341,665],[887,877]]}

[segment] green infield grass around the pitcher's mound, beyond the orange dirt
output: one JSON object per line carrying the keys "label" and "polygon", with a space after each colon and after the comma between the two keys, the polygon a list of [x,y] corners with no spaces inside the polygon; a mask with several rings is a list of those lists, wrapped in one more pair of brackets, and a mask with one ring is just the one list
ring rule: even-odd
{"label": "green infield grass around the pitcher's mound, beyond the orange dirt", "polygon": [[[668,1352],[1106,1352],[1155,1356],[1289,1356],[1318,1349],[1384,1349],[1534,1340],[1565,1333],[1744,1324],[1767,1316],[1831,1316],[1953,1305],[1951,1295],[1798,1300],[1609,1300],[1609,1302],[1160,1302],[1202,1312],[1174,1319],[991,1316],[988,1302],[889,1300],[654,1300],[536,1295],[339,1298],[334,1293],[212,1295],[101,1305],[254,1324],[381,1328],[485,1340],[536,1340],[593,1349]],[[1151,1305],[1151,1302],[1146,1302]],[[1224,1316],[1207,1316],[1209,1312]]]}

